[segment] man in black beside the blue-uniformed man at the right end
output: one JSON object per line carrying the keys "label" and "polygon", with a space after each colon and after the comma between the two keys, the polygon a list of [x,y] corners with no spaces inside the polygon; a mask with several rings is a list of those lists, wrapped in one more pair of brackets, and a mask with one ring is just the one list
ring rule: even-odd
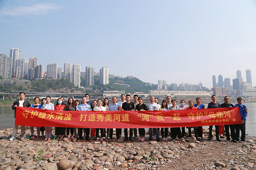
{"label": "man in black beside the blue-uniformed man at the right end", "polygon": [[[221,108],[233,108],[234,105],[232,105],[229,102],[229,97],[225,96],[224,97],[224,103],[221,104]],[[230,131],[231,131],[231,138],[232,141],[235,142],[236,141],[236,134],[235,134],[235,126],[234,125],[224,125],[225,127],[225,133],[226,133],[226,137],[227,137],[227,142],[230,141],[230,133],[229,133],[229,127],[230,127]]]}

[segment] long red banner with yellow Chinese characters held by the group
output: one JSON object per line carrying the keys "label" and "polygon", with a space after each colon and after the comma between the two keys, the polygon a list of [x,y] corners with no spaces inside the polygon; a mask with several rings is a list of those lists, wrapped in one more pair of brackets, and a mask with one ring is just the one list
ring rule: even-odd
{"label": "long red banner with yellow Chinese characters held by the group", "polygon": [[175,111],[52,111],[17,107],[15,125],[85,128],[194,127],[240,124],[239,108]]}

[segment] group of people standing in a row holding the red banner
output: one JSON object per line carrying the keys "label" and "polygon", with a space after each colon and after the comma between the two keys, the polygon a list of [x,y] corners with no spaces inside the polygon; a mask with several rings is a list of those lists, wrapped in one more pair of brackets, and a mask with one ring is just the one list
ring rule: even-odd
{"label": "group of people standing in a row holding the red banner", "polygon": [[[39,108],[45,110],[60,110],[60,111],[167,111],[167,110],[185,110],[185,109],[204,109],[205,106],[201,103],[201,99],[199,97],[196,98],[196,103],[192,100],[189,100],[189,107],[186,107],[185,101],[180,100],[180,106],[177,106],[177,101],[175,99],[171,99],[170,96],[167,96],[165,100],[162,101],[161,105],[158,104],[158,99],[154,96],[150,97],[150,103],[145,105],[143,103],[143,98],[139,97],[138,95],[134,95],[133,99],[134,102],[131,102],[131,95],[130,94],[122,94],[121,101],[117,102],[116,96],[113,96],[109,103],[109,100],[105,98],[103,101],[102,99],[97,100],[89,100],[90,95],[85,94],[85,96],[81,100],[81,104],[79,100],[75,100],[70,97],[67,101],[67,105],[64,104],[64,98],[58,98],[56,104],[53,105],[51,103],[51,97],[47,96],[46,98],[41,99],[41,104],[39,104],[40,99],[35,97],[34,104],[30,105],[29,101],[25,99],[25,94],[20,92],[20,99],[15,101],[12,105],[12,109],[15,110],[16,115],[16,108],[17,107],[31,107],[31,108]],[[238,104],[233,106],[229,103],[229,97],[224,97],[224,103],[219,104],[216,102],[217,97],[212,95],[212,102],[208,104],[207,108],[231,108],[231,107],[239,107],[240,114],[241,114],[241,124],[239,125],[225,125],[225,131],[227,136],[227,141],[230,141],[230,133],[229,128],[231,131],[231,138],[232,142],[238,142],[241,130],[241,142],[245,140],[245,121],[247,118],[247,107],[242,103],[243,100],[241,97],[237,98]],[[195,137],[198,140],[203,138],[203,127],[187,127],[188,129],[188,136],[191,136],[191,128],[194,128]],[[219,126],[215,125],[215,133],[216,133],[216,140],[220,141],[219,139]],[[14,125],[12,138],[9,140],[12,141],[17,136],[18,125]],[[77,132],[78,130],[78,132]],[[100,130],[100,137],[101,139],[105,139],[108,137],[109,139],[113,138],[113,129],[108,128],[96,128],[96,140],[99,140],[99,130]],[[35,138],[34,135],[34,127],[30,127],[31,131],[31,139]],[[40,132],[42,136],[44,136],[45,131],[45,138],[44,140],[51,140],[52,139],[52,127],[37,127],[37,139],[41,139]],[[90,128],[70,128],[70,127],[55,127],[55,136],[58,140],[62,140],[64,135],[67,135],[67,138],[74,138],[77,137],[78,139],[83,139],[83,132],[85,136],[85,140],[90,140]],[[161,132],[161,133],[160,133]],[[172,140],[176,139],[183,139],[186,134],[185,127],[171,127],[171,138]],[[137,137],[137,128],[130,128],[129,136],[128,136],[128,129],[124,129],[125,134],[125,141],[130,140],[133,141],[133,137]],[[162,138],[160,138],[160,134]],[[21,126],[21,136],[25,135],[25,127]],[[71,136],[70,136],[71,135]],[[92,136],[92,135],[91,135]],[[122,136],[122,129],[116,129],[116,139],[120,139]],[[149,128],[149,139],[153,140],[155,136],[157,142],[167,141],[167,137],[169,136],[169,127],[165,128]],[[212,126],[209,127],[209,140],[212,139]],[[139,128],[139,138],[138,141],[145,141],[145,129]]]}

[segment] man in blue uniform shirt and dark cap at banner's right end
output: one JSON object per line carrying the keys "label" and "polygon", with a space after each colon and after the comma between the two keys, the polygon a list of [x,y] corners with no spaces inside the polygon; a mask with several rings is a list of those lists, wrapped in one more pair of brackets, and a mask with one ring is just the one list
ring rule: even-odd
{"label": "man in blue uniform shirt and dark cap at banner's right end", "polygon": [[240,142],[244,142],[245,141],[245,121],[247,118],[247,114],[248,114],[248,108],[246,105],[243,104],[243,99],[241,97],[237,98],[237,102],[238,104],[235,105],[235,107],[239,108],[240,111],[240,115],[241,115],[241,124],[237,124],[236,126],[236,141],[239,141],[239,136],[240,136],[240,130],[241,130],[241,141]]}

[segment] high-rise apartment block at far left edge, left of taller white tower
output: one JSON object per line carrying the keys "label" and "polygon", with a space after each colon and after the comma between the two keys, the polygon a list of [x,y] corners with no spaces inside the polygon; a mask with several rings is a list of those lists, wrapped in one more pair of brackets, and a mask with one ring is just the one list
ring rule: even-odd
{"label": "high-rise apartment block at far left edge, left of taller white tower", "polygon": [[12,57],[7,54],[0,54],[0,76],[10,78],[12,73]]}

